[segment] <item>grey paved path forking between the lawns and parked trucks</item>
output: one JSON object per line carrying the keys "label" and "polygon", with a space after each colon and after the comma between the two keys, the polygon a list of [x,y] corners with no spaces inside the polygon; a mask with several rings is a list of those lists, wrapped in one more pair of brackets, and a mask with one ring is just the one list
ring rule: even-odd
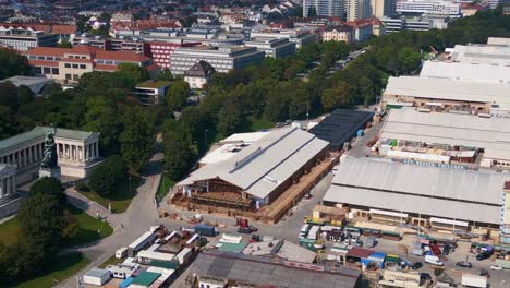
{"label": "grey paved path forking between the lawns and parked trucks", "polygon": [[[87,267],[75,276],[82,276],[92,267],[100,265],[113,255],[119,248],[130,244],[143,232],[147,231],[150,226],[159,224],[155,197],[161,178],[161,153],[156,153],[153,156],[148,167],[143,171],[143,184],[136,190],[136,196],[133,199],[127,209],[122,214],[108,216],[107,220],[112,225],[113,235],[97,242],[75,248],[75,250],[83,252],[92,260]],[[85,207],[85,204],[81,203],[83,199],[77,197],[75,192],[70,192],[68,195],[73,199],[72,201],[77,204],[77,207]],[[73,202],[71,203],[74,205]],[[97,212],[97,209],[95,211],[94,203],[87,202],[87,205],[90,206],[86,207],[87,213],[92,212],[93,216],[95,216]],[[96,205],[98,204],[96,203]],[[108,213],[105,208],[102,208],[102,211]],[[121,228],[121,224],[123,228]],[[75,276],[57,287],[75,288]]]}

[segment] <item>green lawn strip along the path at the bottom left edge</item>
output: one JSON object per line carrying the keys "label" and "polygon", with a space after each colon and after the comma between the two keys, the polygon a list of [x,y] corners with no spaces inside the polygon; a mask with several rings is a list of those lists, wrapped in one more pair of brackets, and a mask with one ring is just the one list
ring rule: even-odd
{"label": "green lawn strip along the path at the bottom left edge", "polygon": [[[49,288],[68,279],[89,263],[88,259],[80,252],[56,256],[46,271],[34,278],[14,284],[17,288]],[[0,285],[1,287],[1,285]],[[9,286],[5,286],[9,287]],[[12,287],[12,286],[11,286]]]}

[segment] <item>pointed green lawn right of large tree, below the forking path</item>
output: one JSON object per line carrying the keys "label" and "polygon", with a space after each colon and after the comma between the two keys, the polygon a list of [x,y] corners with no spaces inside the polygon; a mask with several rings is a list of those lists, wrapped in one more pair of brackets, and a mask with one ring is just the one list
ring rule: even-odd
{"label": "pointed green lawn right of large tree, below the forking path", "polygon": [[113,232],[113,228],[111,228],[110,225],[92,217],[84,211],[78,209],[72,205],[68,205],[66,208],[76,219],[78,225],[78,233],[73,239],[68,240],[66,245],[72,247],[97,241],[110,236]]}

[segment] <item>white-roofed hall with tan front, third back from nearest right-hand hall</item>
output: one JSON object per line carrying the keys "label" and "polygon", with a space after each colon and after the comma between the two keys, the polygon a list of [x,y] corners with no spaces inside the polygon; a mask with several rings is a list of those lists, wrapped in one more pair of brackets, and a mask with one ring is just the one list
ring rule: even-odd
{"label": "white-roofed hall with tan front, third back from nearest right-hand hall", "polygon": [[452,81],[439,77],[400,76],[388,80],[381,107],[422,108],[508,115],[510,84]]}

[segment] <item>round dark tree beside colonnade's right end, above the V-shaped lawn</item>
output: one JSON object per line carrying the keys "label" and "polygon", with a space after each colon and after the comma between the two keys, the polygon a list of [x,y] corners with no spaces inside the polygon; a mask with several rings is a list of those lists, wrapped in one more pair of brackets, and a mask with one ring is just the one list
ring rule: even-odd
{"label": "round dark tree beside colonnade's right end, above the V-shaped lawn", "polygon": [[88,187],[104,197],[111,196],[125,180],[127,167],[119,155],[105,159],[88,177]]}

